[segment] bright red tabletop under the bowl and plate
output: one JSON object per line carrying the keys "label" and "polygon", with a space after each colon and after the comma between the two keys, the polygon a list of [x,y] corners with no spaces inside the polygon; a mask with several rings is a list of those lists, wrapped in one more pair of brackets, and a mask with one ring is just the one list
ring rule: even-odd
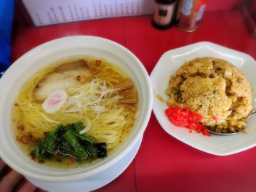
{"label": "bright red tabletop under the bowl and plate", "polygon": [[[12,63],[33,47],[63,36],[90,35],[127,47],[151,73],[169,49],[199,41],[247,53],[256,59],[256,40],[249,36],[238,10],[208,11],[200,27],[187,33],[151,26],[151,16],[119,17],[31,28],[18,25],[12,36]],[[256,140],[256,137],[255,137]],[[168,135],[152,113],[143,142],[129,167],[97,191],[256,191],[256,148],[214,156]],[[75,189],[74,189],[75,190]]]}

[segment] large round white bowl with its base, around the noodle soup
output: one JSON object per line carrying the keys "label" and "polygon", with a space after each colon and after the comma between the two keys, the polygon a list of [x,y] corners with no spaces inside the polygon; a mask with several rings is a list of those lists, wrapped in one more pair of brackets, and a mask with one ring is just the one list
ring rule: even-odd
{"label": "large round white bowl with its base, around the noodle soup", "polygon": [[[138,114],[135,126],[123,143],[105,159],[76,169],[42,166],[20,150],[12,132],[11,113],[17,92],[25,81],[45,65],[64,57],[78,55],[101,57],[128,73],[137,87]],[[128,49],[95,36],[69,36],[55,39],[25,53],[0,79],[0,156],[9,167],[47,191],[92,191],[111,182],[124,171],[140,147],[152,109],[152,88],[147,71]],[[104,176],[105,175],[105,176]],[[103,178],[104,177],[104,178]],[[93,181],[93,182],[92,182]]]}

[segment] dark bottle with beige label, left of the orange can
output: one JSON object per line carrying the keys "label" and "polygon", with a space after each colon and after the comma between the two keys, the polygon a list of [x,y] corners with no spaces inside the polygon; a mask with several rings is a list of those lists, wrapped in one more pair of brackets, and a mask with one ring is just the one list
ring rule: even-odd
{"label": "dark bottle with beige label, left of the orange can", "polygon": [[158,29],[170,28],[173,24],[177,0],[156,0],[151,23]]}

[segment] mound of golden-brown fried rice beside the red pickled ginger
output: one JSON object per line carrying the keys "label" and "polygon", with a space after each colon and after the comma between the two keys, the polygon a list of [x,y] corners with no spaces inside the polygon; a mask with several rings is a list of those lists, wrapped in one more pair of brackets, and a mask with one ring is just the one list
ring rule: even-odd
{"label": "mound of golden-brown fried rice beside the red pickled ginger", "polygon": [[181,65],[170,76],[166,94],[168,106],[187,106],[215,132],[244,129],[252,109],[252,89],[244,74],[214,57],[198,57]]}

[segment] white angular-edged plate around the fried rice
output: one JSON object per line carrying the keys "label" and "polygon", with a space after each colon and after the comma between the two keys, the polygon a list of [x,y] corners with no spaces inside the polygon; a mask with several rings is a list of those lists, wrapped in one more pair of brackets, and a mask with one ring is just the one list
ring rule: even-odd
{"label": "white angular-edged plate around the fried rice", "polygon": [[191,145],[193,148],[197,148],[207,153],[226,156],[254,147],[256,145],[255,117],[249,119],[249,122],[247,123],[249,129],[248,134],[239,133],[228,136],[211,135],[210,137],[206,137],[196,132],[189,132],[188,129],[183,127],[176,127],[167,119],[167,116],[165,116],[164,110],[167,109],[167,105],[157,99],[156,95],[161,95],[167,100],[168,96],[164,94],[164,90],[168,87],[169,76],[171,74],[175,75],[177,69],[185,62],[185,60],[207,56],[227,60],[241,69],[252,87],[252,108],[255,108],[255,60],[242,52],[203,41],[169,50],[161,56],[159,62],[156,64],[150,76],[153,87],[153,113],[155,113],[156,119],[169,135],[172,135],[172,137],[177,138],[183,143]]}

